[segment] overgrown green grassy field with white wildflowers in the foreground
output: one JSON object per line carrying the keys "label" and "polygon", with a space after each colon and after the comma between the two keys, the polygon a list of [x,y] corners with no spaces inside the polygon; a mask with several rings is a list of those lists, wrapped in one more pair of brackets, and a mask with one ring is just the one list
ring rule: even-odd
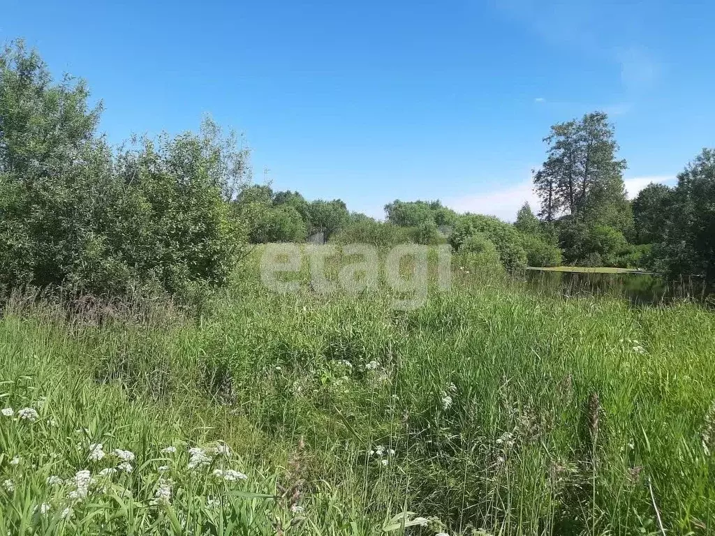
{"label": "overgrown green grassy field with white wildflowers in the foreground", "polygon": [[6,307],[1,534],[715,532],[711,313],[456,265],[405,312],[257,254],[200,316]]}

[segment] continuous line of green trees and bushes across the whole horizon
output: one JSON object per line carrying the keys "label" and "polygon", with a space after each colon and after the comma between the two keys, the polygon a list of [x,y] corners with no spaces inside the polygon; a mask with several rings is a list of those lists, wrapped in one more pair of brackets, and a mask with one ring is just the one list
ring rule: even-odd
{"label": "continuous line of green trees and bushes across the whole horizon", "polygon": [[21,41],[0,53],[0,292],[38,287],[107,297],[189,295],[225,284],[249,244],[325,240],[450,244],[475,266],[644,267],[708,281],[715,156],[704,150],[674,188],[629,202],[606,114],[551,127],[534,173],[538,214],[510,224],[439,201],[385,205],[385,219],[340,199],[253,184],[250,154],[210,119],[198,132],[110,147],[102,106],[81,79],[54,81]]}

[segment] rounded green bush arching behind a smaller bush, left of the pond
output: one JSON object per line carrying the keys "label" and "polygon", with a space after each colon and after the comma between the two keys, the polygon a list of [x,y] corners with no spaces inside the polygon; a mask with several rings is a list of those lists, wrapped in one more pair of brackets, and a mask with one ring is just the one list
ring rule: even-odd
{"label": "rounded green bush arching behind a smaller bush, left of the pond", "polygon": [[506,222],[493,216],[465,214],[460,216],[450,244],[459,252],[462,244],[475,233],[483,233],[499,252],[501,263],[507,269],[526,267],[526,252],[521,245],[521,234]]}

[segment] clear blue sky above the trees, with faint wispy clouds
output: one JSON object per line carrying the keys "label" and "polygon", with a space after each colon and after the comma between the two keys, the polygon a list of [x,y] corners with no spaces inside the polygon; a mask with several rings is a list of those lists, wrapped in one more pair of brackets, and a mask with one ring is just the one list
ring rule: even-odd
{"label": "clear blue sky above the trees, with faint wispy clouds", "polygon": [[101,129],[245,134],[255,179],[383,214],[513,218],[556,121],[603,109],[631,194],[715,145],[715,4],[2,0],[0,40],[89,82]]}

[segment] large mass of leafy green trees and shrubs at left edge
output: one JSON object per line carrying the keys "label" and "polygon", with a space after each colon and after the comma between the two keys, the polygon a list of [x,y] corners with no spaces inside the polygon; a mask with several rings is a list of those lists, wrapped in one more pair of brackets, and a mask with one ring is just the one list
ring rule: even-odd
{"label": "large mass of leafy green trees and shrubs at left edge", "polygon": [[52,84],[22,44],[0,56],[0,285],[119,297],[224,284],[245,152],[207,120],[114,157],[87,96],[82,82]]}

